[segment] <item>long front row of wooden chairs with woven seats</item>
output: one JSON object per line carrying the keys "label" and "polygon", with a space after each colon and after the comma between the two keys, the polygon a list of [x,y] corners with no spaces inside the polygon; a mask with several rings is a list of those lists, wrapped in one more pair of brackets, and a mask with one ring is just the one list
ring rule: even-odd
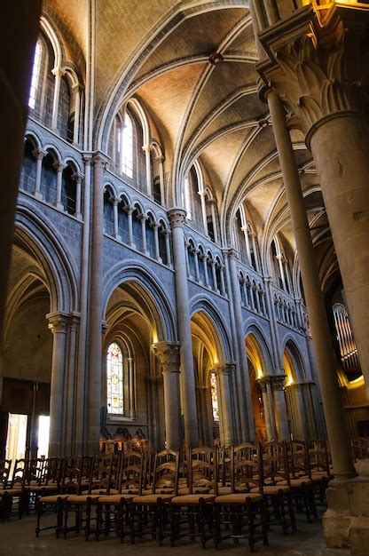
{"label": "long front row of wooden chairs with woven seats", "polygon": [[247,537],[254,549],[268,543],[272,523],[287,534],[295,511],[316,516],[315,492],[321,498],[329,478],[322,441],[67,457],[58,493],[39,498],[35,533],[50,528],[41,520],[53,510],[57,536],[84,531],[98,540],[114,530],[121,542],[149,534],[174,545],[190,536],[203,547]]}

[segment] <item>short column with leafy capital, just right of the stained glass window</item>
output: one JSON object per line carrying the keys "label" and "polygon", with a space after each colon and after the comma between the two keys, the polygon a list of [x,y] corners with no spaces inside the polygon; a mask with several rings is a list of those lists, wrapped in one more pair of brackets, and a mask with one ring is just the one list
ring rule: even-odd
{"label": "short column with leafy capital, just right of the stained glass window", "polygon": [[166,448],[180,449],[182,434],[179,412],[179,344],[157,342],[153,344],[153,353],[160,361],[164,385]]}

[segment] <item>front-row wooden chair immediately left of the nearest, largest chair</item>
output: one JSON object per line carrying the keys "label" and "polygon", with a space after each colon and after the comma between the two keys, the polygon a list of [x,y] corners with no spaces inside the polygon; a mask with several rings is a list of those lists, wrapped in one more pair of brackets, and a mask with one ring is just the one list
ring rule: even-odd
{"label": "front-row wooden chair immediately left of the nearest, largest chair", "polygon": [[[213,510],[218,494],[217,450],[214,448],[194,448],[187,453],[188,488],[183,494],[170,500],[171,523],[170,541],[183,536],[200,538],[205,548],[213,538]],[[185,517],[185,520],[181,519]],[[181,525],[185,524],[185,529]],[[197,528],[196,528],[197,525]]]}

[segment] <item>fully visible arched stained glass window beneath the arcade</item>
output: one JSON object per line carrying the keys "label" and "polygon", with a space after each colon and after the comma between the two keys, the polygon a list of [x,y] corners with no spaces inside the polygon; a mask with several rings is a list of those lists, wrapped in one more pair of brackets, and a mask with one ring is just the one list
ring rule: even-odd
{"label": "fully visible arched stained glass window beneath the arcade", "polygon": [[110,344],[106,355],[107,412],[122,415],[123,404],[123,355],[118,344]]}

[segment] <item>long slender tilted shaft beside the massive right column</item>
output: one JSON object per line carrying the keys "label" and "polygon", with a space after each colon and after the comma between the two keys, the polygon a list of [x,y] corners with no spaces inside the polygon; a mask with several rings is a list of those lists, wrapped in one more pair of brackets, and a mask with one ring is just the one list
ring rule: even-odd
{"label": "long slender tilted shaft beside the massive right column", "polygon": [[337,380],[326,307],[315,266],[310,228],[303,203],[300,179],[294,161],[294,151],[287,131],[285,110],[275,92],[267,92],[267,100],[299,255],[303,290],[310,317],[311,336],[317,353],[319,382],[325,407],[334,474],[350,477],[354,470],[349,436],[345,427],[342,427],[344,418],[342,398]]}

